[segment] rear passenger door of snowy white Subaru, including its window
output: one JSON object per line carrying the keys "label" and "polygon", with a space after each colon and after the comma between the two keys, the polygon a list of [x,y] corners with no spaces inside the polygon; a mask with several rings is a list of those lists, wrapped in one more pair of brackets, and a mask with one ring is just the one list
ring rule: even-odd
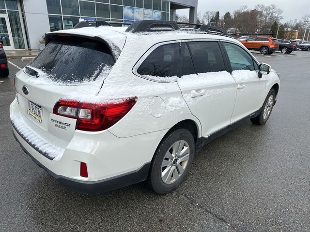
{"label": "rear passenger door of snowy white Subaru, including its window", "polygon": [[178,85],[204,137],[228,126],[233,114],[236,82],[222,54],[217,41],[182,43]]}

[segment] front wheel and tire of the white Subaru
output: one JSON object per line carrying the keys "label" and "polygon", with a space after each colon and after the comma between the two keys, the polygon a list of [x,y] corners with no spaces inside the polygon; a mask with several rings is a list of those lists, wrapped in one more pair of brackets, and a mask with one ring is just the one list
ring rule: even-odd
{"label": "front wheel and tire of the white Subaru", "polygon": [[275,98],[276,98],[276,91],[272,88],[270,89],[265,101],[263,102],[263,107],[261,110],[261,113],[251,118],[251,122],[257,125],[263,125],[268,120],[269,116],[271,115],[273,106],[275,104]]}

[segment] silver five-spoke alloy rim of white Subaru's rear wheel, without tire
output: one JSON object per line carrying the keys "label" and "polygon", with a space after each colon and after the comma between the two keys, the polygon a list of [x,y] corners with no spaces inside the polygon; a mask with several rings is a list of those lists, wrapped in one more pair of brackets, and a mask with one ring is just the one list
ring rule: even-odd
{"label": "silver five-spoke alloy rim of white Subaru's rear wheel, without tire", "polygon": [[161,164],[161,179],[172,184],[184,173],[190,155],[189,145],[184,140],[175,142],[166,152]]}

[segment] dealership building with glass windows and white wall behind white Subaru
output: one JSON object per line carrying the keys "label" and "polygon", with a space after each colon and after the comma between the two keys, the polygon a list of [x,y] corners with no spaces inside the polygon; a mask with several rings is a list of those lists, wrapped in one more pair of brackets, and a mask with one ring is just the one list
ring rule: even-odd
{"label": "dealership building with glass windows and white wall behind white Subaru", "polygon": [[176,10],[197,18],[198,0],[0,0],[0,42],[5,50],[39,49],[42,35],[72,29],[80,20],[175,20]]}

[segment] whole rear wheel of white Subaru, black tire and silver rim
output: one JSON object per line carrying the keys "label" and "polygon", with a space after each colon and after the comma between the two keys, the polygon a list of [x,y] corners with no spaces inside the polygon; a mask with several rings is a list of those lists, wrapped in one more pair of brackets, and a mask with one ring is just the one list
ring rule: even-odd
{"label": "whole rear wheel of white Subaru, black tire and silver rim", "polygon": [[190,131],[176,128],[167,134],[155,151],[147,178],[149,188],[159,194],[178,188],[188,174],[194,153],[195,141]]}

